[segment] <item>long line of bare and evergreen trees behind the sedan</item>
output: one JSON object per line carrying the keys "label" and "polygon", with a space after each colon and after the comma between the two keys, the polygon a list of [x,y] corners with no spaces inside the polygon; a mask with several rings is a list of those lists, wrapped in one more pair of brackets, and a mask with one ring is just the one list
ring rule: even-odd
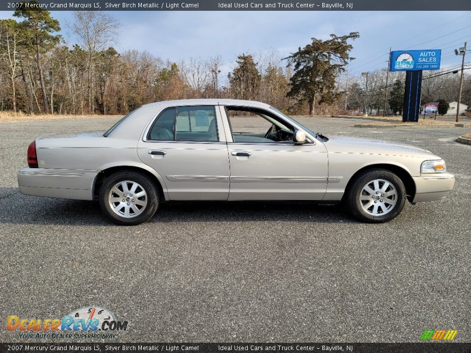
{"label": "long line of bare and evergreen trees behind the sedan", "polygon": [[[14,12],[15,19],[0,20],[1,111],[126,114],[154,101],[214,97],[263,101],[291,114],[357,113],[364,107],[362,76],[346,81],[344,75],[354,60],[350,52],[357,32],[312,38],[287,57],[276,50],[239,54],[224,80],[221,56],[174,62],[148,51],[118,52],[113,45],[120,24],[109,13],[72,15],[62,26],[49,11],[23,6]],[[63,29],[76,44],[65,43],[59,34]],[[392,75],[387,87],[383,71],[370,73],[367,109],[378,111],[388,89],[388,108],[401,110],[400,75]],[[444,79],[436,82],[440,89]],[[436,90],[424,89],[430,97]]]}

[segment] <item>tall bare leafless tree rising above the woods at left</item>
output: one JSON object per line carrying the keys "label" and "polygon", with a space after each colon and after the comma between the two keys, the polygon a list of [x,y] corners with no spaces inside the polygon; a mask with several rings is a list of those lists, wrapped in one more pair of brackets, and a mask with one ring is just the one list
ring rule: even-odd
{"label": "tall bare leafless tree rising above the woods at left", "polygon": [[115,42],[119,22],[103,11],[74,11],[74,18],[74,23],[68,24],[68,27],[77,35],[79,44],[87,52],[88,107],[93,113],[95,58],[101,50]]}

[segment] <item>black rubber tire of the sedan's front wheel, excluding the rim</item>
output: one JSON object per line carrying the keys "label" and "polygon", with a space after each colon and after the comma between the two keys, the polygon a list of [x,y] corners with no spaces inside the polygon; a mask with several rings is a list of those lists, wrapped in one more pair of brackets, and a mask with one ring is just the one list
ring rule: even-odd
{"label": "black rubber tire of the sedan's front wheel, excluding the rim", "polygon": [[[374,179],[384,179],[394,186],[397,191],[397,202],[392,211],[382,216],[373,216],[366,213],[360,202],[360,194],[363,187]],[[402,180],[394,173],[385,169],[373,169],[365,172],[352,185],[348,195],[348,204],[352,214],[360,220],[368,223],[384,223],[394,219],[401,213],[406,199],[406,190]]]}

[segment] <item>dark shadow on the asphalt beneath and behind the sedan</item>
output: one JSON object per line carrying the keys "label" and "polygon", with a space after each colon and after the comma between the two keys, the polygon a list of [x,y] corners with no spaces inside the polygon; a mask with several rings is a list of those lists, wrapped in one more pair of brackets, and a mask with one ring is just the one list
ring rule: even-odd
{"label": "dark shadow on the asphalt beneath and behind the sedan", "polygon": [[[18,188],[0,188],[0,203],[0,224],[114,225],[93,201],[40,198],[23,195]],[[253,221],[357,223],[340,205],[272,201],[162,203],[148,223]]]}

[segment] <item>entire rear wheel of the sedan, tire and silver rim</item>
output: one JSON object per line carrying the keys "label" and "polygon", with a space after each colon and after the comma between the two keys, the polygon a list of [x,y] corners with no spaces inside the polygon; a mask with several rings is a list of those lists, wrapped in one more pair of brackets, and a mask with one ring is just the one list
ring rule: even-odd
{"label": "entire rear wheel of the sedan, tire and silver rim", "polygon": [[154,216],[159,205],[154,182],[134,171],[108,176],[100,189],[99,201],[105,216],[122,226],[146,222]]}

